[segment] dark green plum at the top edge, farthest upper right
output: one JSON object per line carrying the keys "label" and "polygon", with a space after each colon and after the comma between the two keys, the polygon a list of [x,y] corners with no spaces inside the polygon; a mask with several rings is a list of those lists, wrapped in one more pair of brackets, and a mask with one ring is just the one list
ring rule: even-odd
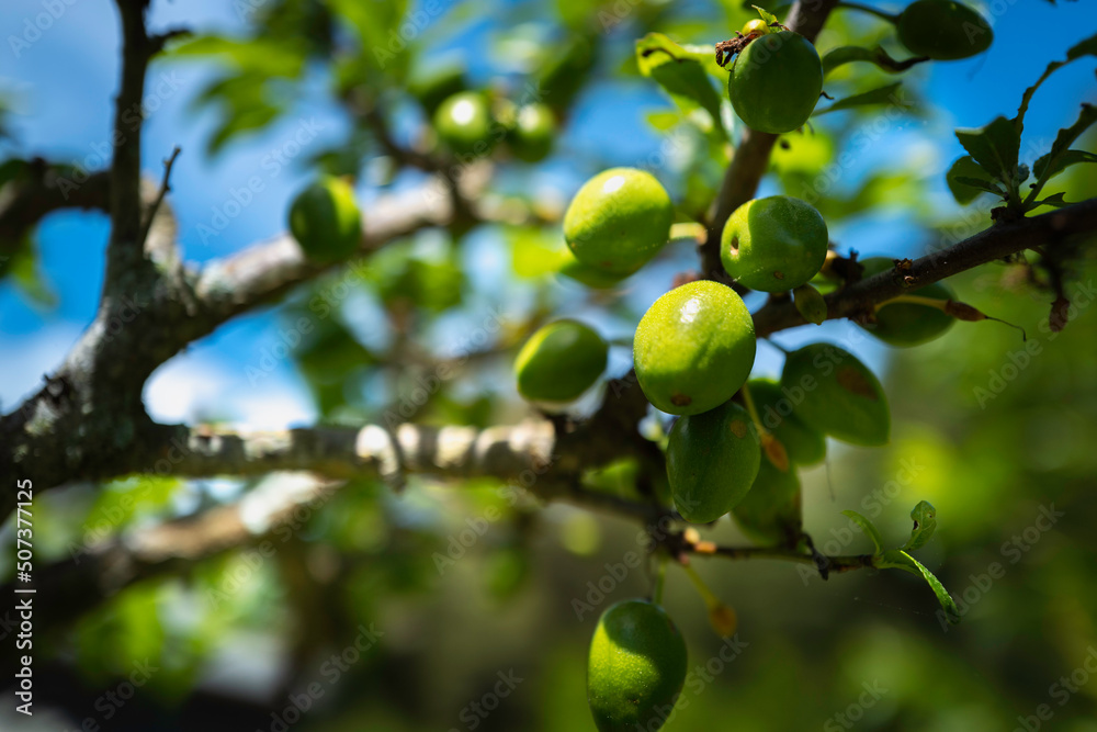
{"label": "dark green plum at the top edge, farthest upper right", "polygon": [[941,61],[975,56],[994,41],[982,15],[952,0],[915,0],[895,25],[898,40],[912,54]]}

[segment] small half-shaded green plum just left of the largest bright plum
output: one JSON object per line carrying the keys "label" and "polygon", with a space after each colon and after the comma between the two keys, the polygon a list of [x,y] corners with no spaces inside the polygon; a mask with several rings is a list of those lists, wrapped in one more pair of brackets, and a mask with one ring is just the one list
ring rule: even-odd
{"label": "small half-shaded green plum just left of the largest bright plum", "polygon": [[606,370],[609,346],[577,320],[556,320],[534,333],[514,360],[518,392],[531,402],[570,402]]}

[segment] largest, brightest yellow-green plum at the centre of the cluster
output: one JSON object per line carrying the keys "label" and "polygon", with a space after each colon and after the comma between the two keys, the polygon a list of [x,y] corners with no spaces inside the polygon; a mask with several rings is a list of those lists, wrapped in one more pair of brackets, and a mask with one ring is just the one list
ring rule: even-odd
{"label": "largest, brightest yellow-green plum at the centre of the cluster", "polygon": [[711,280],[675,288],[636,327],[633,361],[647,401],[677,415],[713,409],[739,390],[755,357],[750,312]]}

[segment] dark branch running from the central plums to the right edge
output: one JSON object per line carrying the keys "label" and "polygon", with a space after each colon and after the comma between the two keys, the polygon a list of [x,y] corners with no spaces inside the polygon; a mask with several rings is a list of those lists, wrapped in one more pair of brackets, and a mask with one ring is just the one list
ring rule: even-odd
{"label": "dark branch running from the central plums to the right edge", "polygon": [[[991,228],[914,260],[908,270],[881,272],[826,296],[827,318],[862,312],[912,288],[959,274],[980,264],[1038,246],[1053,247],[1075,235],[1097,232],[1097,199],[1051,213],[995,224]],[[759,337],[805,325],[791,300],[768,302],[754,315]]]}

